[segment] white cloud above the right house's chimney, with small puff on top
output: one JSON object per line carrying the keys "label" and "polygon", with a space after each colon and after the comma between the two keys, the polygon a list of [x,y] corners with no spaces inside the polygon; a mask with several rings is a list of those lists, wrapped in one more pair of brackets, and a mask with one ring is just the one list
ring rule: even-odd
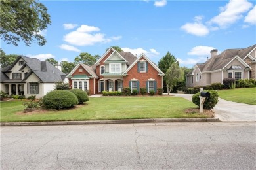
{"label": "white cloud above the right house's chimney, with small puff on top", "polygon": [[194,23],[186,23],[181,27],[186,33],[196,36],[205,36],[209,33],[209,29],[201,23],[203,16],[195,16]]}

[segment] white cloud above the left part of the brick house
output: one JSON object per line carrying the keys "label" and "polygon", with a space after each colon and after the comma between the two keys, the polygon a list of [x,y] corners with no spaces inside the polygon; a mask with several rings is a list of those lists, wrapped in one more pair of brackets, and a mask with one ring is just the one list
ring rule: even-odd
{"label": "white cloud above the left part of the brick house", "polygon": [[76,31],[64,35],[63,39],[76,46],[92,46],[96,43],[107,43],[121,39],[121,36],[106,37],[104,33],[92,33],[98,31],[100,31],[98,27],[81,25]]}

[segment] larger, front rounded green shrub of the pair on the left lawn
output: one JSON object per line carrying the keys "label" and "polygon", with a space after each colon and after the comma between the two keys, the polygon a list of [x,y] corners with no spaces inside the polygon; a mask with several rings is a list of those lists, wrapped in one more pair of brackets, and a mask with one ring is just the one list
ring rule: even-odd
{"label": "larger, front rounded green shrub of the pair on the left lawn", "polygon": [[43,105],[49,109],[66,109],[77,104],[77,97],[68,90],[53,90],[43,97]]}

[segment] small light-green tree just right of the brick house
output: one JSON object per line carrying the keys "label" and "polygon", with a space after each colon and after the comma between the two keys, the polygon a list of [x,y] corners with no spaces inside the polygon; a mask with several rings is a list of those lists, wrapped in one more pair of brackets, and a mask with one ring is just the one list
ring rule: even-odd
{"label": "small light-green tree just right of the brick house", "polygon": [[167,69],[165,74],[165,81],[167,86],[167,93],[171,92],[173,86],[177,86],[184,80],[184,71],[179,67],[179,63],[175,62],[171,64],[171,67]]}

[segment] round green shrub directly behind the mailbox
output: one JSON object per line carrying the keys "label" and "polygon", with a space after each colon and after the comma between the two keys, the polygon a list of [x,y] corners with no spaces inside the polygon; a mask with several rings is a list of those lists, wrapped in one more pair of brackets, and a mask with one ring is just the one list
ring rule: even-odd
{"label": "round green shrub directly behind the mailbox", "polygon": [[[203,103],[203,109],[212,109],[217,105],[218,103],[218,93],[215,90],[203,90],[204,92],[209,92],[210,97],[205,99],[205,102]],[[200,105],[200,99],[199,99],[200,92],[194,94],[192,96],[192,101],[195,105]]]}

